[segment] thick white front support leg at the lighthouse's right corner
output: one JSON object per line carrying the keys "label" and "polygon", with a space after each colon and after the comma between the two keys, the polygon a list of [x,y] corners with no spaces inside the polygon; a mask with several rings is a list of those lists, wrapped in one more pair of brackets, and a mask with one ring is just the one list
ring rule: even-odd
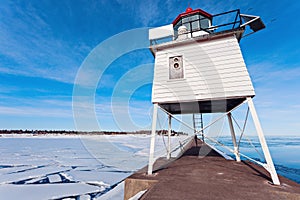
{"label": "thick white front support leg at the lighthouse's right corner", "polygon": [[270,154],[265,136],[263,134],[263,130],[261,128],[256,110],[255,110],[255,107],[254,107],[254,104],[253,104],[253,101],[252,101],[252,98],[248,97],[247,100],[248,100],[249,109],[250,109],[250,112],[251,112],[251,115],[252,115],[252,119],[253,119],[253,122],[254,122],[254,125],[255,125],[255,128],[256,128],[257,134],[258,134],[258,138],[259,138],[259,141],[260,141],[260,144],[261,144],[261,147],[262,147],[262,150],[263,150],[266,162],[267,162],[267,166],[268,166],[267,170],[271,174],[273,184],[280,185],[280,181],[279,181],[276,169],[274,167],[274,163],[273,163],[273,160],[272,160],[272,157],[271,157],[271,154]]}

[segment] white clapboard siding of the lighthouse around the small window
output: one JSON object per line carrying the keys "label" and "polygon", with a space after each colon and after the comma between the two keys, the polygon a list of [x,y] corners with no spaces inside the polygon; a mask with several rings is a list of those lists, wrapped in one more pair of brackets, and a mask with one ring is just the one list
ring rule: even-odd
{"label": "white clapboard siding of the lighthouse around the small window", "polygon": [[[183,56],[183,79],[169,79],[169,57]],[[235,36],[166,47],[155,55],[152,102],[254,96]]]}

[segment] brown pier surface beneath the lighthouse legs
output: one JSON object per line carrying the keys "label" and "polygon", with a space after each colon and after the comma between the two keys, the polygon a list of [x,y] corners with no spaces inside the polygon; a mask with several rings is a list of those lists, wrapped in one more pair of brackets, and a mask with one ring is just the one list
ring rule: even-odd
{"label": "brown pier surface beneath the lighthouse legs", "polygon": [[[179,159],[146,175],[147,167],[125,180],[128,199],[147,189],[140,199],[299,199],[300,184],[282,176],[280,186],[270,184],[269,173],[250,162],[223,158],[209,146],[197,142]],[[156,166],[165,159],[156,161]],[[154,166],[155,168],[155,166]]]}

